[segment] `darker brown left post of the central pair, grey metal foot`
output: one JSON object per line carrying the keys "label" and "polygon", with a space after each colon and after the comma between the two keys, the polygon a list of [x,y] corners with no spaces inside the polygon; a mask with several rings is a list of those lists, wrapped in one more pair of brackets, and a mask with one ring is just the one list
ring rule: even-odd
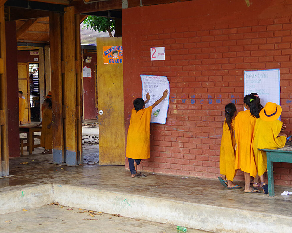
{"label": "darker brown left post of the central pair, grey metal foot", "polygon": [[50,55],[53,111],[53,161],[65,162],[62,104],[61,15],[50,13]]}

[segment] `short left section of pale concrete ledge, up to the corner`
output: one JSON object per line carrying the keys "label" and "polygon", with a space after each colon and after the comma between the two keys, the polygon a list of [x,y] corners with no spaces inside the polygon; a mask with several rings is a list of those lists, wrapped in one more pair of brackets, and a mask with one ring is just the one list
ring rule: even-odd
{"label": "short left section of pale concrete ledge, up to the corner", "polygon": [[11,213],[23,208],[35,208],[52,203],[52,184],[33,187],[17,187],[16,190],[0,193],[0,214]]}

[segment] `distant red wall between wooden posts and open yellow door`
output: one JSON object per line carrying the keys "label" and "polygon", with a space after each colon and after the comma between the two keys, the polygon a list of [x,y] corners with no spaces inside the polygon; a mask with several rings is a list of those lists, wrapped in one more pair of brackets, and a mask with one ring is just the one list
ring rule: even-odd
{"label": "distant red wall between wooden posts and open yellow door", "polygon": [[83,66],[91,68],[91,77],[83,78],[83,106],[84,106],[84,119],[96,119],[97,109],[95,108],[95,64],[96,54],[95,53],[84,53],[83,59],[92,57],[91,63],[85,63]]}

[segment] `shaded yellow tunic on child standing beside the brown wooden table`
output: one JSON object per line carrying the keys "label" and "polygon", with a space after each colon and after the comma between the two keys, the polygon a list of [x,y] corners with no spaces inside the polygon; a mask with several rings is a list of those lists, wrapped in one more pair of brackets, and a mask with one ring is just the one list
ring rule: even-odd
{"label": "shaded yellow tunic on child standing beside the brown wooden table", "polygon": [[52,110],[45,108],[43,112],[41,147],[44,147],[46,150],[51,150],[53,148],[53,130],[52,126],[49,129],[47,126],[52,121]]}

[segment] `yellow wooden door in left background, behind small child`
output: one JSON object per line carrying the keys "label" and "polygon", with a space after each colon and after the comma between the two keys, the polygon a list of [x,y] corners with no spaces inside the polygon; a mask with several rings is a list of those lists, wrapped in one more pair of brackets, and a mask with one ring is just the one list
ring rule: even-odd
{"label": "yellow wooden door in left background, behind small child", "polygon": [[[24,124],[30,123],[30,97],[29,97],[29,68],[28,63],[18,63],[18,90],[25,97],[25,110],[23,115]],[[15,93],[17,94],[17,93]]]}

